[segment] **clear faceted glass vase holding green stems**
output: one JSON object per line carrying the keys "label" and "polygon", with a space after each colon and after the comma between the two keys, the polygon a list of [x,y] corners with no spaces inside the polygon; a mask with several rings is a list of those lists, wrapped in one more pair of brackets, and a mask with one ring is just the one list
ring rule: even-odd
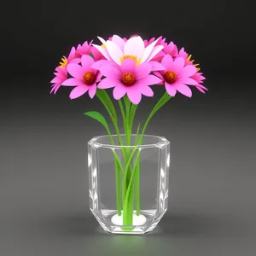
{"label": "clear faceted glass vase holding green stems", "polygon": [[[120,143],[121,142],[121,143]],[[167,209],[170,143],[144,135],[94,137],[88,143],[90,210],[103,230],[144,234]]]}

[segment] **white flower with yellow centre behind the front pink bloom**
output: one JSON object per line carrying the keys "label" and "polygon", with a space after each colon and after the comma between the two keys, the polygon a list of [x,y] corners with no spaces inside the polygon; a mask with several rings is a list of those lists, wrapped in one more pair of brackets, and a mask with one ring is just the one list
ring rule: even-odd
{"label": "white flower with yellow centre behind the front pink bloom", "polygon": [[145,47],[141,37],[129,38],[126,42],[116,35],[113,36],[112,41],[99,39],[102,42],[102,46],[93,45],[108,61],[114,61],[119,66],[127,58],[135,61],[136,65],[151,61],[164,48],[162,45],[155,46],[157,40]]}

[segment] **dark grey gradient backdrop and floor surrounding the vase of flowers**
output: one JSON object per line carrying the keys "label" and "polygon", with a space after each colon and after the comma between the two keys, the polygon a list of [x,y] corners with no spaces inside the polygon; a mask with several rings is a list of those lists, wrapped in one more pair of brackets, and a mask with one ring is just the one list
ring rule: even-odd
{"label": "dark grey gradient backdrop and floor surrounding the vase of flowers", "polygon": [[[255,30],[252,1],[3,1],[0,255],[253,256]],[[62,55],[113,33],[163,34],[207,76],[206,95],[173,98],[148,134],[171,141],[169,209],[145,236],[102,232],[89,211],[87,146],[105,133],[83,116],[104,111],[69,88],[49,95]],[[144,99],[137,121],[154,99]],[[105,112],[104,112],[105,113]]]}

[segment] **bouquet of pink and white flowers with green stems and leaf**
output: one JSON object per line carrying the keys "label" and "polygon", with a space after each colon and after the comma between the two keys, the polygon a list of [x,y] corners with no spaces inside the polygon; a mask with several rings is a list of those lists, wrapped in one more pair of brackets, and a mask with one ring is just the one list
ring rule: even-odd
{"label": "bouquet of pink and white flowers with green stems and leaf", "polygon": [[[184,48],[177,49],[173,42],[166,38],[143,40],[134,35],[131,38],[120,38],[118,35],[104,40],[98,37],[101,44],[93,41],[73,47],[68,56],[63,56],[60,66],[55,68],[55,78],[51,80],[51,93],[56,93],[63,86],[72,86],[70,98],[76,99],[88,92],[91,99],[95,96],[106,108],[122,148],[123,160],[113,150],[116,166],[116,205],[124,225],[132,224],[133,184],[135,183],[137,215],[140,214],[139,194],[139,161],[140,151],[137,146],[143,143],[144,133],[154,114],[177,93],[191,97],[192,90],[205,93],[202,85],[205,77],[199,64],[191,59]],[[131,150],[125,146],[131,144],[133,121],[137,106],[142,97],[153,97],[154,90],[164,86],[166,91],[148,114],[142,125],[137,125],[136,147]],[[118,101],[122,122],[125,129],[125,141],[119,131],[119,119],[113,100],[106,90],[113,89],[113,99]],[[192,90],[191,90],[192,89]],[[106,128],[110,142],[114,144],[113,134],[108,127],[107,119],[102,113],[90,111],[84,113],[96,119]],[[137,152],[137,154],[136,154]],[[132,160],[136,158],[133,162]]]}

